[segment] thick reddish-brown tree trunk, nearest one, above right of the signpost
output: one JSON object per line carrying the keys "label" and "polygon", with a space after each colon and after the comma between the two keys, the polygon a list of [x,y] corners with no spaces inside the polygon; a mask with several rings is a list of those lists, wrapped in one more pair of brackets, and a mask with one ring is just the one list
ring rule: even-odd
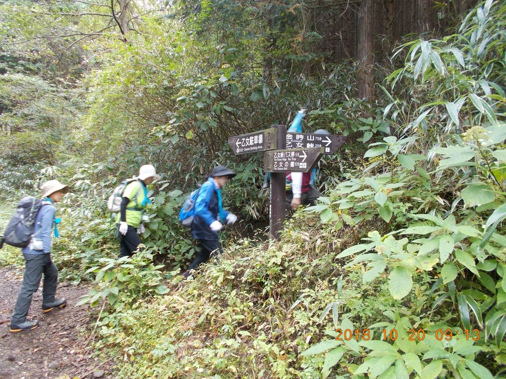
{"label": "thick reddish-brown tree trunk, nearest one, above right of the signpost", "polygon": [[374,97],[374,81],[372,68],[374,56],[372,55],[372,0],[360,2],[360,14],[358,17],[358,49],[357,59],[359,69],[357,73],[357,95],[366,101]]}

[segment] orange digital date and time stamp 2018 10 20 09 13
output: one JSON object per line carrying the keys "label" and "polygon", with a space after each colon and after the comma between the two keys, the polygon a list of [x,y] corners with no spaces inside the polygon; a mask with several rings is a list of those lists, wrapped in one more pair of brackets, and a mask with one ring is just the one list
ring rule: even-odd
{"label": "orange digital date and time stamp 2018 10 20 09 13", "polygon": [[[350,341],[350,340],[374,340],[373,333],[369,329],[335,329],[335,333],[337,336],[335,337],[335,340],[337,341]],[[464,329],[463,333],[460,334],[458,331],[453,331],[451,329],[436,329],[435,331],[426,332],[424,329],[408,329],[407,330],[407,338],[408,341],[423,341],[428,333],[434,333],[434,337],[438,341],[446,340],[450,341],[453,338],[458,340],[459,338],[466,339],[466,341],[473,340],[478,341],[480,339],[480,330],[479,329],[473,329],[468,330]],[[397,329],[383,329],[379,333],[381,340],[390,340],[390,341],[396,341],[399,339],[399,333],[397,333]],[[404,337],[400,338],[401,340],[404,340]]]}

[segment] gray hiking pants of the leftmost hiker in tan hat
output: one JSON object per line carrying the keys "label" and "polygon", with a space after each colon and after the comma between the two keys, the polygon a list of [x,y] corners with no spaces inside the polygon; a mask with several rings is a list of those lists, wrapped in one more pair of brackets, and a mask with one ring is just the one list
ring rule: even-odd
{"label": "gray hiking pants of the leftmost hiker in tan hat", "polygon": [[19,290],[18,300],[11,317],[11,324],[19,325],[26,321],[30,309],[32,295],[40,286],[40,279],[44,274],[42,289],[42,303],[49,304],[56,300],[56,285],[58,283],[58,269],[51,260],[50,254],[23,254],[25,258],[25,273]]}

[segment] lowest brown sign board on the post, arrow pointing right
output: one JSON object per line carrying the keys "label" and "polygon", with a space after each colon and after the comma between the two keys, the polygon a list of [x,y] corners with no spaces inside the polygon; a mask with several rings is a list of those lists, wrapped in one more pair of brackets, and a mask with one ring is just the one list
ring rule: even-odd
{"label": "lowest brown sign board on the post, arrow pointing right", "polygon": [[274,150],[264,153],[267,172],[309,172],[323,155],[324,148]]}

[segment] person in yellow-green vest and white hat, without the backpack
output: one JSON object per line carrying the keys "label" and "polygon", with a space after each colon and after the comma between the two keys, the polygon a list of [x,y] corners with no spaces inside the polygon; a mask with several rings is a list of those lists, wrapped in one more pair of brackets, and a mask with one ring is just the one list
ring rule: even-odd
{"label": "person in yellow-green vest and white hat, without the backpack", "polygon": [[143,221],[147,221],[144,210],[151,204],[147,186],[159,179],[152,165],[144,165],[139,170],[137,180],[129,183],[123,192],[120,211],[116,216],[119,233],[119,258],[131,257],[141,243],[138,234],[144,232]]}

